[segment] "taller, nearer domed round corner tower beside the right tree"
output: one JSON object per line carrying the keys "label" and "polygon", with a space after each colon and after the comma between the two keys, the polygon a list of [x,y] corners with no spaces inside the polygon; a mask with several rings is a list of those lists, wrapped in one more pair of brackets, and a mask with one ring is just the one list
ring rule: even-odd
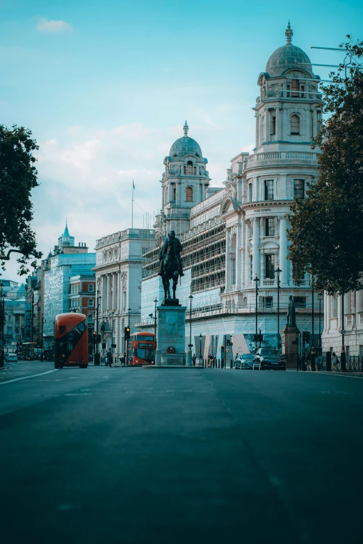
{"label": "taller, nearer domed round corner tower beside the right tree", "polygon": [[[286,44],[268,59],[260,74],[260,95],[255,106],[256,147],[245,166],[245,286],[261,279],[264,297],[275,300],[277,264],[282,288],[296,288],[296,296],[309,285],[309,277],[293,270],[287,260],[291,201],[304,198],[307,184],[318,177],[318,149],[312,138],[321,123],[320,78],[312,71],[307,54],[291,43],[290,23]],[[300,278],[297,280],[297,278]],[[272,298],[271,298],[272,300]],[[275,304],[275,302],[273,303]],[[302,303],[301,303],[302,304]]]}

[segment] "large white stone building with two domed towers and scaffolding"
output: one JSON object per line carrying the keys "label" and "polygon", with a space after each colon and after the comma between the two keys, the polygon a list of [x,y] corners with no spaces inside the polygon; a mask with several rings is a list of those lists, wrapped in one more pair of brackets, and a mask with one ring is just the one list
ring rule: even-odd
{"label": "large white stone building with two domed towers and scaffolding", "polygon": [[[225,188],[209,188],[207,159],[188,136],[187,125],[164,159],[156,247],[145,255],[143,267],[140,326],[152,324],[147,318],[152,299],[162,296],[159,246],[175,230],[185,267],[178,297],[188,304],[193,295],[193,336],[202,334],[204,355],[212,351],[219,356],[229,334],[236,340],[235,350],[252,348],[255,277],[258,329],[267,345],[277,345],[277,265],[282,271],[280,330],[289,295],[295,299],[298,328],[312,330],[309,276],[293,271],[287,260],[287,229],[291,202],[303,198],[307,183],[318,176],[318,150],[312,151],[311,143],[319,130],[322,101],[319,77],[306,53],[291,43],[290,25],[285,34],[287,43],[271,55],[258,79],[254,153],[232,159]],[[317,334],[318,320],[314,329]],[[199,341],[193,344],[198,347]]]}

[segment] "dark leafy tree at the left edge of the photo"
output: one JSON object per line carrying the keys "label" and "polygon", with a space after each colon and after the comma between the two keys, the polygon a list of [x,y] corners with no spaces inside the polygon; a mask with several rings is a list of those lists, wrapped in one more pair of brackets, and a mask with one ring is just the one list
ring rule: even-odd
{"label": "dark leafy tree at the left edge of the photo", "polygon": [[[20,275],[29,272],[27,263],[31,257],[42,256],[36,250],[35,233],[30,226],[31,190],[38,186],[33,156],[36,149],[31,131],[22,126],[8,129],[0,125],[0,259],[9,248],[18,249],[22,253],[17,259]],[[1,267],[5,270],[4,260]]]}

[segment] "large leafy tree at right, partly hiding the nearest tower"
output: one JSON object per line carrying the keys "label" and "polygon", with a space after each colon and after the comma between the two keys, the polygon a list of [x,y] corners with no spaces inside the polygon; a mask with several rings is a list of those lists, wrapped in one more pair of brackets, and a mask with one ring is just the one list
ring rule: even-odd
{"label": "large leafy tree at right, partly hiding the nearest tower", "polygon": [[330,295],[362,289],[363,271],[363,42],[339,47],[344,62],[322,87],[330,115],[313,140],[319,177],[291,206],[289,259]]}

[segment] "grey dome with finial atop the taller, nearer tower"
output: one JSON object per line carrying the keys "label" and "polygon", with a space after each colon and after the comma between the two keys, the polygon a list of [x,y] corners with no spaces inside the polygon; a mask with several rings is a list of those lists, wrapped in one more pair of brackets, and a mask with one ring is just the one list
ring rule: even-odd
{"label": "grey dome with finial atop the taller, nearer tower", "polygon": [[[280,77],[287,70],[302,69],[314,77],[312,63],[305,51],[291,44],[293,31],[290,23],[285,32],[287,43],[273,52],[266,64],[266,72],[270,77]],[[300,63],[300,65],[298,64]]]}

